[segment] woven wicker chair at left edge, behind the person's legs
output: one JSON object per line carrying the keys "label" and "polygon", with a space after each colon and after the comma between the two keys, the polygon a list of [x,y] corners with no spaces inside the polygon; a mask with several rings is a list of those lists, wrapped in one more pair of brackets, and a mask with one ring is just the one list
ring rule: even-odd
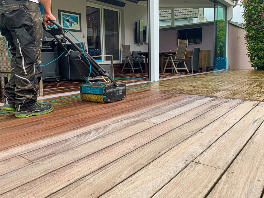
{"label": "woven wicker chair at left edge, behind the person's legs", "polygon": [[[11,72],[10,58],[3,37],[0,37],[0,53],[0,72]],[[0,75],[2,88],[4,88],[4,77],[7,77],[7,74]]]}

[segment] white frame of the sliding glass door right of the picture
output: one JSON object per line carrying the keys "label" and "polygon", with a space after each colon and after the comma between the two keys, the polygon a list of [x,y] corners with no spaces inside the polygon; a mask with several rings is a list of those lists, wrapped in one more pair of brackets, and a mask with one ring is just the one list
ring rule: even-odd
{"label": "white frame of the sliding glass door right of the picture", "polygon": [[[94,7],[94,8],[98,8],[100,9],[100,29],[101,29],[101,36],[100,36],[100,42],[101,42],[101,51],[102,51],[102,55],[106,55],[105,54],[105,27],[104,27],[104,18],[103,18],[103,9],[107,9],[107,10],[113,10],[113,11],[117,11],[118,12],[118,31],[119,31],[119,60],[114,60],[114,63],[122,63],[122,59],[121,59],[121,24],[120,24],[120,12],[121,10],[115,9],[115,8],[110,8],[110,7],[106,7],[106,6],[100,6],[97,4],[93,4],[93,3],[86,3],[86,6],[89,7]],[[87,27],[86,27],[87,29]],[[105,63],[111,63],[110,60],[105,60],[104,57],[102,57],[102,62],[97,62],[98,64],[105,64]]]}

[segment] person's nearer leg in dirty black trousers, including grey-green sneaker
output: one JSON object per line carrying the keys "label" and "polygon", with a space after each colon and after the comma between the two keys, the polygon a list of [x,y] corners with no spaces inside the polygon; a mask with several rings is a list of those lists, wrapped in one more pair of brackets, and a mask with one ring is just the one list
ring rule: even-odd
{"label": "person's nearer leg in dirty black trousers, including grey-green sneaker", "polygon": [[18,10],[4,13],[3,24],[10,30],[16,45],[15,106],[16,117],[42,115],[53,110],[52,105],[36,102],[41,78],[41,45],[43,30],[39,4],[19,1]]}

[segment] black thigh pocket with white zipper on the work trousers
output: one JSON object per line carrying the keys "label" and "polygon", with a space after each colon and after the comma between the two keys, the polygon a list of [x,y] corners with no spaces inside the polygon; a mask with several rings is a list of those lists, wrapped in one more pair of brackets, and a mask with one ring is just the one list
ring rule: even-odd
{"label": "black thigh pocket with white zipper on the work trousers", "polygon": [[24,27],[15,29],[15,32],[22,59],[24,59],[26,64],[37,63],[37,50],[34,39]]}

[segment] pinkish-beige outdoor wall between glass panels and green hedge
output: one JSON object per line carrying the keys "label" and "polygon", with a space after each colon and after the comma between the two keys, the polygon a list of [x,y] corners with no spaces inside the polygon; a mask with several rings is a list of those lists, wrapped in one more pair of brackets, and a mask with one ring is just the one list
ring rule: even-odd
{"label": "pinkish-beige outdoor wall between glass panels and green hedge", "polygon": [[[230,69],[252,69],[246,55],[245,30],[242,27],[228,24],[228,65]],[[239,38],[239,36],[241,36]]]}

